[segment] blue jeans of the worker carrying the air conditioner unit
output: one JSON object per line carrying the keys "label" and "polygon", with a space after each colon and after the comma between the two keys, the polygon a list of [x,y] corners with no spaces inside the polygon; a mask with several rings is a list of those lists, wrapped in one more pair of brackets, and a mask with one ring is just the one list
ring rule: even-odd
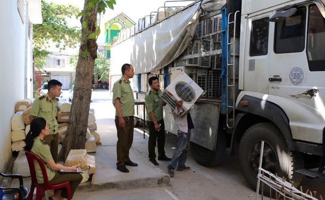
{"label": "blue jeans of the worker carrying the air conditioner unit", "polygon": [[187,153],[189,149],[191,130],[188,129],[187,132],[188,133],[184,133],[180,130],[177,131],[178,144],[177,144],[177,148],[174,151],[172,160],[169,162],[167,166],[168,168],[175,170],[177,163],[178,163],[177,169],[182,169],[185,167],[185,162],[186,162]]}

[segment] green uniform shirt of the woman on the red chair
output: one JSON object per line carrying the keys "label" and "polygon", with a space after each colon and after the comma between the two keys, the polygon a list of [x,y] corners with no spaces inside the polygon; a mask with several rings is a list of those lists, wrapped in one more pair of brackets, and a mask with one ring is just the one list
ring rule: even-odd
{"label": "green uniform shirt of the woman on the red chair", "polygon": [[[45,143],[45,141],[43,142],[40,137],[36,137],[36,138],[34,138],[34,144],[32,144],[30,151],[35,153],[42,159],[42,161],[44,162],[45,168],[46,168],[47,177],[49,178],[49,181],[52,180],[55,175],[55,171],[53,171],[46,164],[46,162],[51,161],[51,159],[53,159],[49,145],[47,145]],[[43,174],[41,171],[41,167],[37,161],[34,161],[34,163],[35,163],[37,182],[42,184],[42,183],[44,183],[44,178],[43,178]]]}

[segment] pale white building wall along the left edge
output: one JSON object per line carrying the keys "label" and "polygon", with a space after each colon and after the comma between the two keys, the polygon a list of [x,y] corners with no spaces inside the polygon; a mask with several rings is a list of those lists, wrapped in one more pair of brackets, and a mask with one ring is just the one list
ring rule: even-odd
{"label": "pale white building wall along the left edge", "polygon": [[32,94],[31,45],[30,40],[25,43],[25,24],[17,1],[6,1],[0,6],[0,26],[0,171],[5,172],[12,157],[10,134],[15,105]]}

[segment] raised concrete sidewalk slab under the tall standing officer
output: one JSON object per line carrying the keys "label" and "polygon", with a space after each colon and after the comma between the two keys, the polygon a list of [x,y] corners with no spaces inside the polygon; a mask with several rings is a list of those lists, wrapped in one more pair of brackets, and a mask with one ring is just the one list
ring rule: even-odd
{"label": "raised concrete sidewalk slab under the tall standing officer", "polygon": [[131,159],[138,163],[137,167],[126,166],[129,173],[116,169],[116,145],[98,146],[96,153],[96,172],[94,183],[90,181],[79,185],[77,190],[95,191],[103,189],[134,189],[156,186],[169,186],[170,177],[159,168],[154,167],[135,148],[129,152]]}

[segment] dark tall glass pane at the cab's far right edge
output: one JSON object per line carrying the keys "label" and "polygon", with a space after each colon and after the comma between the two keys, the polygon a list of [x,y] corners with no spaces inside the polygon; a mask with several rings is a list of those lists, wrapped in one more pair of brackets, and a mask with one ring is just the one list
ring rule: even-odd
{"label": "dark tall glass pane at the cab's far right edge", "polygon": [[310,71],[324,71],[325,20],[316,5],[309,6],[307,58]]}

